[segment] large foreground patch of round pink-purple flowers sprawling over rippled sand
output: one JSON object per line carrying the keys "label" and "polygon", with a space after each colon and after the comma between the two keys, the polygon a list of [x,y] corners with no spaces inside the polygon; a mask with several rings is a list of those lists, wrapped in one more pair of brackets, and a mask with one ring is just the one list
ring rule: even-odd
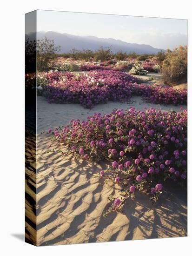
{"label": "large foreground patch of round pink-purple flowers sprawling over rippled sand", "polygon": [[[121,210],[136,191],[156,202],[167,180],[186,186],[186,110],[176,113],[149,108],[143,112],[130,108],[104,116],[95,113],[87,121],[72,120],[66,127],[49,129],[48,134],[51,141],[68,148],[66,154],[110,163],[94,175],[121,188],[118,198],[108,197],[112,205],[104,216]],[[51,145],[48,151],[52,151]]]}

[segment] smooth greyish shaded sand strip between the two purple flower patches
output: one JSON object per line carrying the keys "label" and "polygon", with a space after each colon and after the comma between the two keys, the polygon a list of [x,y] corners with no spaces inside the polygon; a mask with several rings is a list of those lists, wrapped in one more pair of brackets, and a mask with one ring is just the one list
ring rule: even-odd
{"label": "smooth greyish shaded sand strip between the two purple flower patches", "polygon": [[67,125],[71,119],[86,120],[87,116],[94,113],[102,115],[111,113],[114,108],[127,109],[134,107],[136,110],[144,110],[144,108],[155,108],[165,111],[179,111],[182,107],[186,109],[186,105],[157,105],[143,102],[140,96],[133,96],[129,103],[120,103],[109,101],[107,104],[98,104],[93,109],[83,108],[79,104],[48,104],[45,97],[37,97],[37,133],[47,130],[48,128],[56,128],[60,125]]}

